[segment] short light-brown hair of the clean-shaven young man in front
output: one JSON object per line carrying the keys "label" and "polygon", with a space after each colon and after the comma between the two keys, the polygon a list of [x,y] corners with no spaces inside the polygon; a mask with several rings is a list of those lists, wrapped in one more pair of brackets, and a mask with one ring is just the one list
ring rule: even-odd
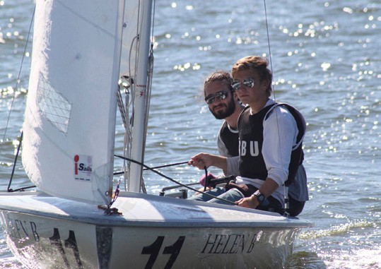
{"label": "short light-brown hair of the clean-shaven young man in front", "polygon": [[231,76],[234,76],[238,71],[251,70],[257,72],[261,80],[269,80],[269,87],[266,88],[267,96],[271,95],[271,83],[273,74],[269,68],[269,61],[261,56],[246,56],[239,59],[232,68]]}

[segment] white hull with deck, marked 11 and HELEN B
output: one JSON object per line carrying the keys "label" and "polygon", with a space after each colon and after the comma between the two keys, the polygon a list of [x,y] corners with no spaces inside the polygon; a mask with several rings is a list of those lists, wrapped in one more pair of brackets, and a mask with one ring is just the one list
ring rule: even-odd
{"label": "white hull with deck, marked 11 and HELEN B", "polygon": [[0,195],[8,246],[30,268],[281,268],[310,222],[258,210],[121,193],[96,205]]}

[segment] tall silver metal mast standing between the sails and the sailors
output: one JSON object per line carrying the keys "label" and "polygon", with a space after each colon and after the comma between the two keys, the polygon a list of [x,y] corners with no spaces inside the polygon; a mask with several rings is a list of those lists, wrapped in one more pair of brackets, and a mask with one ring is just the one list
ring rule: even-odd
{"label": "tall silver metal mast standing between the sails and the sailors", "polygon": [[[134,128],[132,130],[131,159],[143,162],[143,149],[145,138],[144,117],[146,115],[147,98],[147,70],[148,70],[148,52],[150,44],[151,31],[151,10],[152,0],[143,1],[141,34],[139,36],[139,56],[138,67],[135,80],[135,109],[134,109]],[[131,163],[129,191],[140,192],[141,175],[143,167]]]}

